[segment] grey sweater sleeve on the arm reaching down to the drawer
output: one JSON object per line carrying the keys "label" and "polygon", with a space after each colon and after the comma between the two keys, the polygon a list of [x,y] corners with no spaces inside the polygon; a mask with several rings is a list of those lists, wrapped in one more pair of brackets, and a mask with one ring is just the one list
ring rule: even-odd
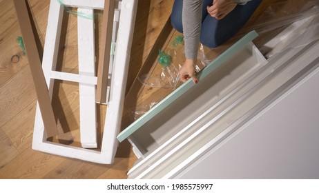
{"label": "grey sweater sleeve on the arm reaching down to the drawer", "polygon": [[182,10],[185,57],[196,59],[202,26],[202,0],[184,0]]}

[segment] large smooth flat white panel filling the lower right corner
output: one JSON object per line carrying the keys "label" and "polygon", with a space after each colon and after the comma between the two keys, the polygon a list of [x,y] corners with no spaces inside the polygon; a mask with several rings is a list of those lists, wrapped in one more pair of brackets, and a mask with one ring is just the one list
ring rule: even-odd
{"label": "large smooth flat white panel filling the lower right corner", "polygon": [[318,82],[319,68],[176,178],[318,179]]}

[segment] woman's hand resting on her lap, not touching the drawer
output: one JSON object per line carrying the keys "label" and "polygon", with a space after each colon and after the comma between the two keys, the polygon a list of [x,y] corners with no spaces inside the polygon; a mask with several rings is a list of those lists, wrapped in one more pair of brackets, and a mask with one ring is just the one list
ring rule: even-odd
{"label": "woman's hand resting on her lap, not touching the drawer", "polygon": [[235,9],[237,3],[233,0],[213,0],[213,6],[207,6],[207,12],[215,19],[223,19],[229,12]]}

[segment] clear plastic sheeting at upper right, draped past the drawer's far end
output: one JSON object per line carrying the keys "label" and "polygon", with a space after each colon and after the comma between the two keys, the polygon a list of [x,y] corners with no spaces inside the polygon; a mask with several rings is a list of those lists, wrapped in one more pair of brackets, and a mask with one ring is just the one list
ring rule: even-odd
{"label": "clear plastic sheeting at upper right, draped past the drawer's far end", "polygon": [[[267,6],[262,7],[261,4],[260,14],[252,18],[241,30],[241,34],[251,30],[258,32],[259,37],[253,42],[264,57],[268,59],[279,52],[296,47],[300,43],[305,43],[305,39],[316,39],[313,34],[313,37],[309,37],[307,29],[318,23],[313,21],[319,13],[318,0],[282,0],[264,4]],[[300,41],[300,35],[305,39]],[[296,42],[297,38],[299,42]]]}

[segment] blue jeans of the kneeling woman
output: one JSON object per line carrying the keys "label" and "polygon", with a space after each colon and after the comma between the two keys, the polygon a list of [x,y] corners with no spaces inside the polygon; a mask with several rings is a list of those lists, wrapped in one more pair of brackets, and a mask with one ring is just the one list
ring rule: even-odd
{"label": "blue jeans of the kneeling woman", "polygon": [[[252,0],[244,6],[238,5],[221,20],[217,20],[207,12],[206,7],[211,6],[212,0],[203,0],[202,28],[200,42],[209,48],[215,48],[231,39],[243,26],[262,0]],[[182,26],[183,0],[175,0],[171,13],[173,28],[183,32]]]}

